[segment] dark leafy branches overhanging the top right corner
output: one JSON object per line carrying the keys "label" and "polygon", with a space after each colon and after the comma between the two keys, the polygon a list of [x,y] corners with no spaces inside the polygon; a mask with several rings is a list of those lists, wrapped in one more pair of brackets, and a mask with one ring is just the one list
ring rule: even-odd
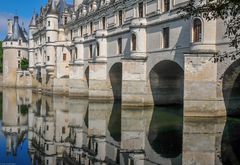
{"label": "dark leafy branches overhanging the top right corner", "polygon": [[181,7],[181,15],[185,18],[202,17],[207,21],[222,19],[226,25],[225,37],[230,40],[232,52],[218,55],[218,60],[240,55],[240,1],[239,0],[190,0]]}

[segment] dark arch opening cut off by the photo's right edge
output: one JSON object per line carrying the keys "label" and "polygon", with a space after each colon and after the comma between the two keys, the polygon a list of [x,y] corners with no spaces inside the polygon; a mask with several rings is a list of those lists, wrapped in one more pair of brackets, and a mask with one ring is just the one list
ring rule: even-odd
{"label": "dark arch opening cut off by the photo's right edge", "polygon": [[240,59],[223,75],[223,97],[228,116],[240,116]]}

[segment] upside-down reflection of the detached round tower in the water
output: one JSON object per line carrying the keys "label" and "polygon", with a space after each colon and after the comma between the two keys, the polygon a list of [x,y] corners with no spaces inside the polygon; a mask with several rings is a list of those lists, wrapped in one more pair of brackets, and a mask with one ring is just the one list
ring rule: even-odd
{"label": "upside-down reflection of the detached round tower in the water", "polygon": [[27,137],[31,90],[3,89],[3,126],[7,154],[17,156],[17,148]]}

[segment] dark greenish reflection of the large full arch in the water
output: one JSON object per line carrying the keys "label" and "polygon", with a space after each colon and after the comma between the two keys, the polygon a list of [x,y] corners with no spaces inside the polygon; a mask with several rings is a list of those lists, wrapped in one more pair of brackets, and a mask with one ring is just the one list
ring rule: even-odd
{"label": "dark greenish reflection of the large full arch in the water", "polygon": [[183,108],[155,107],[149,126],[148,140],[152,149],[164,158],[182,153]]}

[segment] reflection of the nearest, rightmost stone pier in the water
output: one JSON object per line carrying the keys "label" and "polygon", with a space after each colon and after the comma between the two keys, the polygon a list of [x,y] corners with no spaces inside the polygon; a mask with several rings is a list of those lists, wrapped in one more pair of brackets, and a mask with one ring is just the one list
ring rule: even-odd
{"label": "reflection of the nearest, rightmost stone pier in the water", "polygon": [[185,118],[183,164],[220,165],[225,118]]}

